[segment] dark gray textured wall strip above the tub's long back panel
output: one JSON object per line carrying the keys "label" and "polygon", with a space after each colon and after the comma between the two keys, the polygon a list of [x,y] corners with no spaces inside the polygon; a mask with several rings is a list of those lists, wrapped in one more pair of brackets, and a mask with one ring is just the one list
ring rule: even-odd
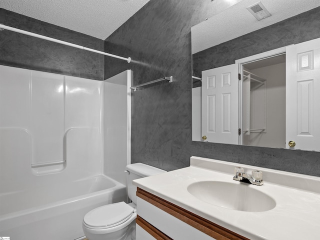
{"label": "dark gray textured wall strip above the tub's long back panel", "polygon": [[[96,50],[104,41],[0,8],[4,25]],[[103,80],[104,56],[9,30],[0,31],[0,64]]]}

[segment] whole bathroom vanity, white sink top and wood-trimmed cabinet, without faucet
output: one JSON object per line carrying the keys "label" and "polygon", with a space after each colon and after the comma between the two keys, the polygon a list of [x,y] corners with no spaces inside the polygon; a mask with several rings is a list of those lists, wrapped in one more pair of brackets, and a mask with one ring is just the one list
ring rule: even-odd
{"label": "whole bathroom vanity, white sink top and wood-trimmed cabinet, without faucet", "polygon": [[[262,185],[233,180],[235,167]],[[318,239],[320,177],[191,157],[190,166],[133,181],[136,239]]]}

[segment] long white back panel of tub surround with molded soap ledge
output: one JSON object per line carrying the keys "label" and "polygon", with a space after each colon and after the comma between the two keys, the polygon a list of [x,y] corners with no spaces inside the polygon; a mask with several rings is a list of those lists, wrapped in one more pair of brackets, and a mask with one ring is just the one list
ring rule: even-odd
{"label": "long white back panel of tub surround with molded soap ledge", "polygon": [[102,84],[0,65],[0,193],[102,173]]}

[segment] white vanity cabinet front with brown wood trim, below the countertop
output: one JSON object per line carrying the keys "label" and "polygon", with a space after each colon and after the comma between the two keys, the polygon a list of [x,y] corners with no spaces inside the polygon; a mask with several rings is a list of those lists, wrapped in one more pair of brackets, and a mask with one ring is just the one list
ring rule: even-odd
{"label": "white vanity cabinet front with brown wood trim, below the countertop", "polygon": [[[137,196],[141,210],[136,239],[248,239],[140,188]],[[147,238],[146,233],[154,238]]]}

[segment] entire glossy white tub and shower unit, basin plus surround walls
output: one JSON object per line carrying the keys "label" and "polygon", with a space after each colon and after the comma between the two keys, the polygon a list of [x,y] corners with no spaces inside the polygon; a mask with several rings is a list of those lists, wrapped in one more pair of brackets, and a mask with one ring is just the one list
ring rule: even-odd
{"label": "entire glossy white tub and shower unit, basin plus surround walls", "polygon": [[129,79],[118,105],[110,82],[0,65],[0,236],[75,239],[86,212],[126,200]]}

